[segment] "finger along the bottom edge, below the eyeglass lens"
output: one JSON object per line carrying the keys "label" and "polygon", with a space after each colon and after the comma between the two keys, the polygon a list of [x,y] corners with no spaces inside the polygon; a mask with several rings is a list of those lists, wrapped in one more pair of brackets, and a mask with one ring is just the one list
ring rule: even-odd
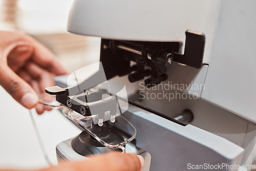
{"label": "finger along the bottom edge, below the eyeglass lens", "polygon": [[139,171],[144,166],[144,159],[136,154],[112,152],[99,155],[85,161],[63,163],[59,166],[43,169],[44,171]]}

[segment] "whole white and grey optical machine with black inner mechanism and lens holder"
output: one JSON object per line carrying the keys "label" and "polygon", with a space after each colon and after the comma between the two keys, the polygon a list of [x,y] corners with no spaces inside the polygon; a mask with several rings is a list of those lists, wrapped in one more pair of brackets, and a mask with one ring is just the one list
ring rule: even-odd
{"label": "whole white and grey optical machine with black inner mechanism and lens holder", "polygon": [[238,12],[250,3],[75,0],[68,31],[101,37],[100,62],[46,89],[83,131],[58,159],[120,151],[141,154],[144,170],[248,169],[256,69],[237,56],[256,62],[241,45],[256,43],[255,18]]}

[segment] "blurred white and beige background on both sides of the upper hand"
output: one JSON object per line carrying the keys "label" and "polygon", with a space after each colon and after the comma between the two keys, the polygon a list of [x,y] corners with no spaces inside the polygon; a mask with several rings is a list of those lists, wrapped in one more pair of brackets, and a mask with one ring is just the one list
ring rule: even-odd
{"label": "blurred white and beige background on both sides of the upper hand", "polygon": [[[58,57],[69,72],[99,61],[100,38],[66,31],[72,0],[0,0],[0,30],[22,30]],[[55,146],[80,133],[57,110],[33,117],[0,87],[0,168],[34,169],[57,164]]]}

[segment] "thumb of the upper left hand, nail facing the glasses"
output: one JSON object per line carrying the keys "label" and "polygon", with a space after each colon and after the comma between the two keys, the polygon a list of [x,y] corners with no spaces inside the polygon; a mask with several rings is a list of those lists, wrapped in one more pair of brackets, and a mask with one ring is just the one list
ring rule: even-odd
{"label": "thumb of the upper left hand, nail facing the glasses", "polygon": [[17,102],[27,109],[34,108],[38,103],[38,96],[32,87],[8,66],[0,66],[0,84]]}

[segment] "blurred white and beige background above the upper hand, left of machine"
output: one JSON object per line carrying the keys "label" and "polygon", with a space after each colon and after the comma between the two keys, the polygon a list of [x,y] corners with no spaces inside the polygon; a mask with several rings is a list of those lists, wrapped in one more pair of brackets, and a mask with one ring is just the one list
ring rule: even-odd
{"label": "blurred white and beige background above the upper hand, left of machine", "polygon": [[100,38],[66,31],[73,0],[0,0],[0,29],[22,30],[52,50],[70,72],[99,60]]}

